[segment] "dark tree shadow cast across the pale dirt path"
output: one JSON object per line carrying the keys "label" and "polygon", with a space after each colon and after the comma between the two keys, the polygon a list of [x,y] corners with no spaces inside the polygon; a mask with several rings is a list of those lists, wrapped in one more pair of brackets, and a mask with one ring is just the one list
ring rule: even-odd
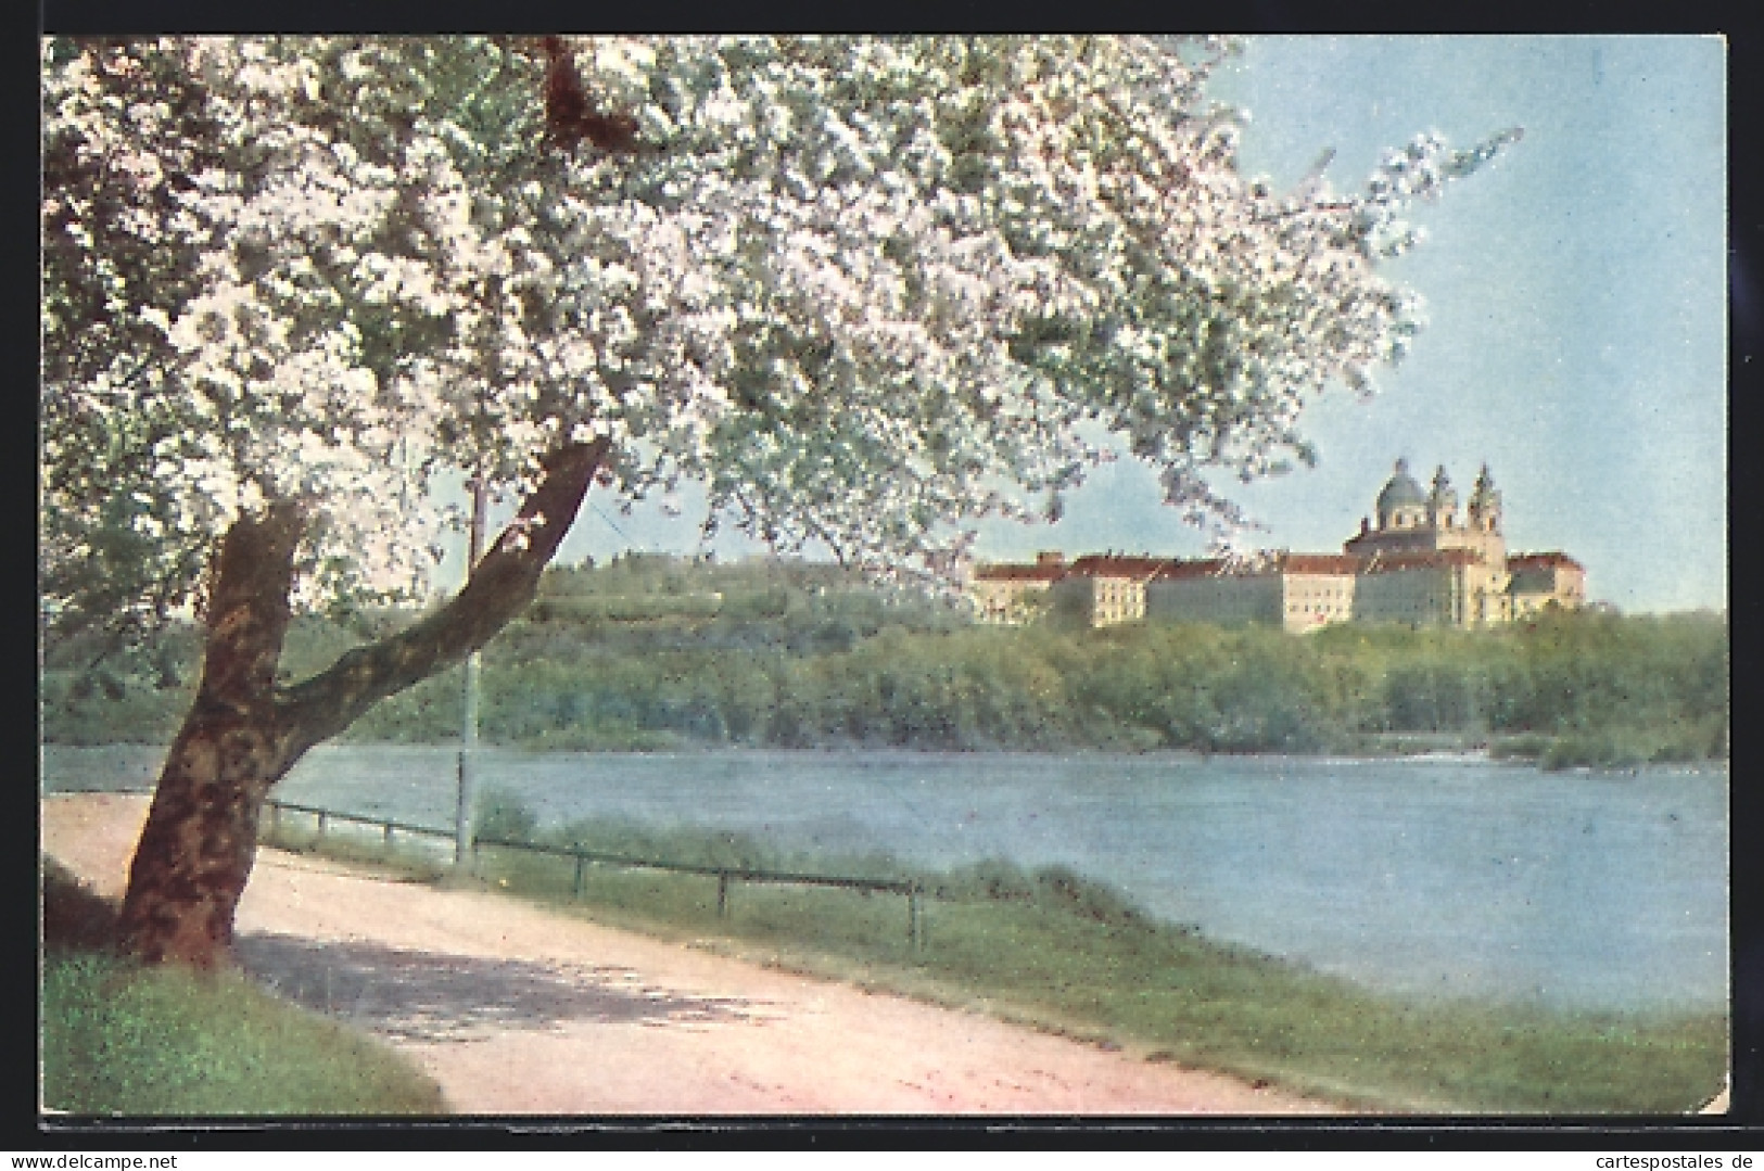
{"label": "dark tree shadow cast across the pale dirt path", "polygon": [[570,1021],[681,1025],[751,1019],[753,1002],[644,988],[628,968],[400,951],[360,940],[245,935],[240,965],[277,995],[388,1037],[485,1040]]}

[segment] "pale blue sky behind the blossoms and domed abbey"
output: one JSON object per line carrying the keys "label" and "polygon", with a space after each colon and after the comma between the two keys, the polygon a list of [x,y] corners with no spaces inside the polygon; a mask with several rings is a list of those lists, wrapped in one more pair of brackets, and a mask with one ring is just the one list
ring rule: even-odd
{"label": "pale blue sky behind the blossoms and domed abbey", "polygon": [[[1524,139],[1413,217],[1388,266],[1429,326],[1379,393],[1305,414],[1314,469],[1224,483],[1270,548],[1335,550],[1404,457],[1461,496],[1487,462],[1510,548],[1565,550],[1623,610],[1727,605],[1727,99],[1713,37],[1256,37],[1214,81],[1245,108],[1240,166],[1275,189],[1325,148],[1335,190],[1438,131]],[[699,552],[695,520],[591,496],[563,559]],[[991,559],[1104,548],[1194,556],[1205,536],[1122,462],[1057,526],[990,524]],[[718,541],[737,556],[741,541]]]}

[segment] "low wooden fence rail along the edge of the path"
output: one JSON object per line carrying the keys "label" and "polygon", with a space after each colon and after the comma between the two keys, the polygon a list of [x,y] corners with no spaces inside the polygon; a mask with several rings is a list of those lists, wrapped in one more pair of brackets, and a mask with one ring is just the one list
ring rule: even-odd
{"label": "low wooden fence rail along the edge of the path", "polygon": [[[453,829],[436,829],[434,825],[413,825],[409,822],[399,822],[388,817],[376,817],[370,813],[342,813],[339,809],[323,809],[319,806],[298,804],[295,801],[280,801],[279,797],[270,797],[270,824],[273,829],[280,829],[282,811],[305,813],[318,818],[319,838],[330,829],[330,822],[348,822],[353,825],[376,825],[385,836],[385,843],[390,847],[393,834],[415,834],[420,838],[443,838],[453,841]],[[515,841],[512,838],[473,838],[471,841],[471,871],[478,873],[478,850],[480,847],[494,847],[497,850],[517,850],[524,854],[540,854],[547,857],[561,857],[575,861],[575,880],[572,884],[572,894],[580,896],[586,878],[586,868],[589,864],[605,866],[624,866],[630,869],[662,869],[677,875],[704,875],[706,878],[716,878],[716,915],[720,919],[729,917],[729,887],[736,882],[753,882],[753,884],[773,884],[773,885],[799,885],[799,887],[841,887],[847,891],[864,891],[880,894],[903,894],[907,896],[907,942],[916,951],[924,951],[924,887],[917,882],[901,878],[850,878],[843,875],[810,875],[797,871],[780,871],[780,869],[755,869],[751,866],[709,866],[700,862],[669,862],[662,859],[642,859],[626,854],[609,854],[605,850],[586,850],[582,847],[545,847],[533,841]]]}

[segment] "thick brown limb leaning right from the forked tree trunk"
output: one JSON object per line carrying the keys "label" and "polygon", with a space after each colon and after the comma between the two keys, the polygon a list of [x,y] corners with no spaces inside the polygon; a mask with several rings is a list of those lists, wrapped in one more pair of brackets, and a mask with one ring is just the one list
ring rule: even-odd
{"label": "thick brown limb leaning right from the forked tree trunk", "polygon": [[543,460],[533,490],[466,586],[420,623],[356,647],[277,697],[280,771],[337,735],[369,707],[464,661],[526,610],[609,450],[607,439],[568,443]]}

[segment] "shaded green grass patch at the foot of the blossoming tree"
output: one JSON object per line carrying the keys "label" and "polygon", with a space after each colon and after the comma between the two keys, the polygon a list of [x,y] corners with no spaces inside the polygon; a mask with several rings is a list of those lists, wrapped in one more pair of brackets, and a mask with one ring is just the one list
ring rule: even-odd
{"label": "shaded green grass patch at the foot of the blossoming tree", "polygon": [[441,1115],[385,1046],[236,973],[104,947],[115,906],[44,862],[41,1102],[76,1116]]}

